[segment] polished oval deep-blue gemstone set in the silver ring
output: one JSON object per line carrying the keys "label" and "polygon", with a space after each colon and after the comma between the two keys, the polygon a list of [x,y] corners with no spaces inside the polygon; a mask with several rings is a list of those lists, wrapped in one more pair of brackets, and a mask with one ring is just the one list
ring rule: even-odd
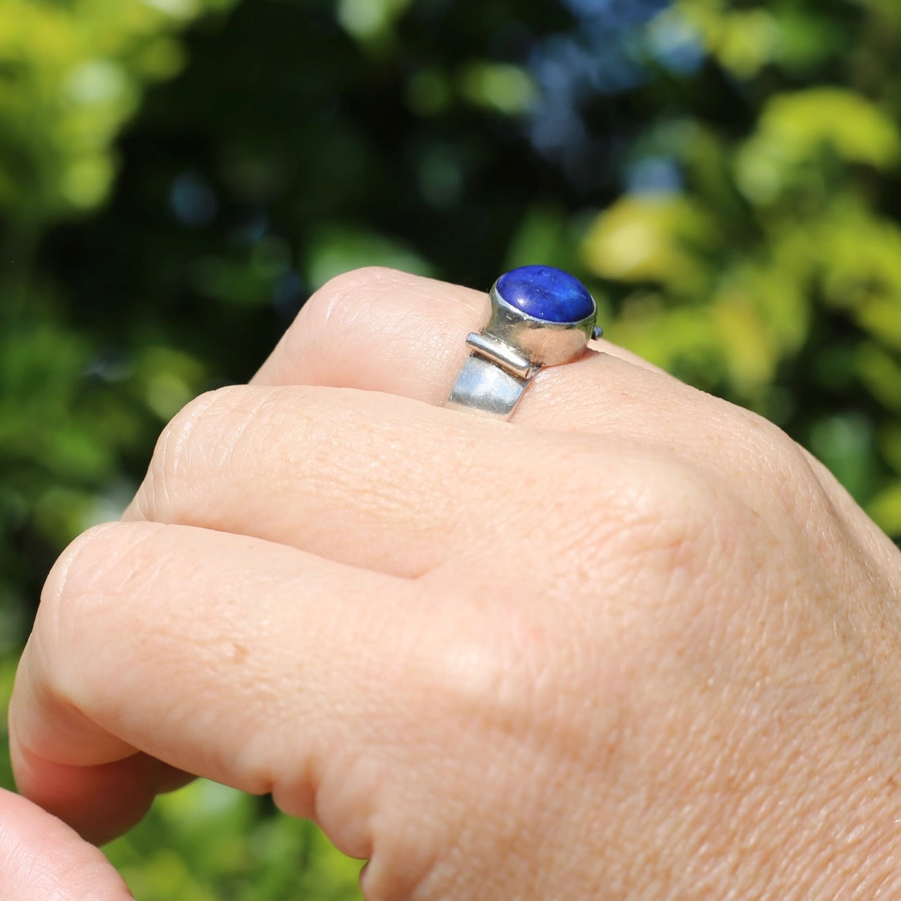
{"label": "polished oval deep-blue gemstone set in the silver ring", "polygon": [[552,266],[523,266],[497,279],[497,293],[517,310],[546,323],[578,323],[595,302],[578,278]]}

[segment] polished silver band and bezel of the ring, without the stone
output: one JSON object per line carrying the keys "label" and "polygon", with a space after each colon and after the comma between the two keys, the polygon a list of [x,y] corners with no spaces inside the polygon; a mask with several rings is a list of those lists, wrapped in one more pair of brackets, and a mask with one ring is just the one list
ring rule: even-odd
{"label": "polished silver band and bezel of the ring, without the stone", "polygon": [[470,332],[469,358],[451,388],[446,406],[509,419],[542,366],[581,357],[591,338],[600,338],[597,306],[578,323],[549,323],[508,304],[491,288],[491,314],[480,332]]}

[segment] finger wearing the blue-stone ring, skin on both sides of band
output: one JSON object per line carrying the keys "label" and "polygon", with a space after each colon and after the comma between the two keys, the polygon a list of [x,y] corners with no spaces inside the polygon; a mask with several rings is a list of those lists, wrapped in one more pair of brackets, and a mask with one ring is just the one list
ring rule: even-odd
{"label": "finger wearing the blue-stone ring, skin on both sides of band", "polygon": [[[466,336],[485,323],[487,310],[487,295],[470,288],[392,269],[359,269],[307,302],[254,382],[356,387],[443,405],[469,353]],[[539,371],[514,422],[630,437],[706,460],[730,478],[749,470],[769,478],[786,457],[799,478],[811,475],[794,442],[760,416],[607,341],[593,346],[601,352]],[[785,487],[787,509],[795,493],[795,484]]]}

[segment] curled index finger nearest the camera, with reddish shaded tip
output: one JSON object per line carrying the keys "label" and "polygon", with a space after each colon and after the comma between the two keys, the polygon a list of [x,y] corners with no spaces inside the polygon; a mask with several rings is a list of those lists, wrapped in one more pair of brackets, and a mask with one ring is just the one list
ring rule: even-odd
{"label": "curled index finger nearest the camera, with reddish shaded tip", "polygon": [[327,763],[397,742],[382,718],[441,622],[418,591],[243,536],[87,532],[50,575],[16,678],[17,782],[94,841],[143,814],[150,758],[312,815]]}

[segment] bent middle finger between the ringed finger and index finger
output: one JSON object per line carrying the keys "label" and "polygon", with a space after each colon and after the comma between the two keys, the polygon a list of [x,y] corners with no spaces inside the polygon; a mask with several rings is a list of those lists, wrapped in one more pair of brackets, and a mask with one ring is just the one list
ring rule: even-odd
{"label": "bent middle finger between the ringed finger and index finger", "polygon": [[[605,486],[587,505],[602,451]],[[393,395],[229,387],[169,424],[124,519],[253,535],[404,577],[491,547],[493,569],[516,572],[529,565],[523,542],[534,565],[593,542],[595,526],[580,521],[622,504],[628,491],[614,499],[610,487],[630,473],[647,485],[659,467],[616,437],[588,444]]]}

